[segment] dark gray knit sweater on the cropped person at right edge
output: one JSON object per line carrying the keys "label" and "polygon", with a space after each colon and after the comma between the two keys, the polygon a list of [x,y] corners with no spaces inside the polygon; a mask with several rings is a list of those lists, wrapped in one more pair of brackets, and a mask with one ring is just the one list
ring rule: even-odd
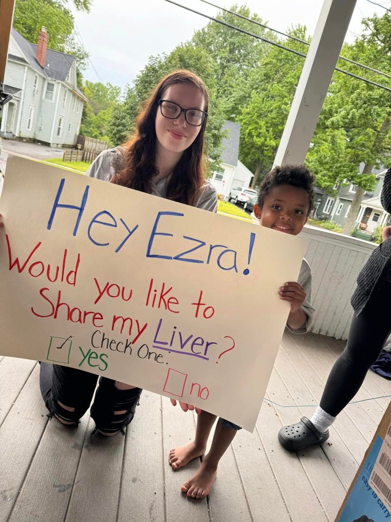
{"label": "dark gray knit sweater on the cropped person at right edge", "polygon": [[[380,200],[384,210],[391,213],[391,169],[387,170],[384,177]],[[357,278],[357,288],[350,300],[356,315],[359,315],[362,312],[376,284],[383,282],[387,268],[390,264],[391,238],[388,238],[372,252]]]}

